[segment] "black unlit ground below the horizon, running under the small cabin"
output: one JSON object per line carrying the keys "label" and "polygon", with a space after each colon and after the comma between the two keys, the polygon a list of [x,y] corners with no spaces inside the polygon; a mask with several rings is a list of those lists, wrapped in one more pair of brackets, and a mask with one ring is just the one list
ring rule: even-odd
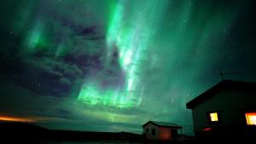
{"label": "black unlit ground below the horizon, running under the small cabin", "polygon": [[[190,143],[191,141],[148,141],[143,135],[128,132],[48,130],[35,124],[0,123],[0,143],[38,144],[141,144]],[[190,140],[190,139],[189,139]],[[5,142],[6,141],[6,142]]]}

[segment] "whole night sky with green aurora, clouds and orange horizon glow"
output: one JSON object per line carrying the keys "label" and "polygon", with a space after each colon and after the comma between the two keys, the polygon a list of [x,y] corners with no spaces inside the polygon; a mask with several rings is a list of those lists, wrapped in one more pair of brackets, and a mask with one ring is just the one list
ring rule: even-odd
{"label": "whole night sky with green aurora, clouds and orange horizon glow", "polygon": [[49,129],[193,134],[186,103],[224,78],[256,82],[253,0],[6,0],[0,119]]}

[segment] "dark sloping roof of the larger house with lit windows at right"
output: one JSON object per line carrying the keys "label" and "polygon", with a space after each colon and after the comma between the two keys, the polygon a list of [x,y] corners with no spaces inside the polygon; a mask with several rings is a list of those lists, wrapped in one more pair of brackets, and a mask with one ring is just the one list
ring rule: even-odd
{"label": "dark sloping roof of the larger house with lit windows at right", "polygon": [[207,101],[216,93],[224,89],[255,89],[256,83],[253,82],[242,82],[242,81],[234,81],[234,80],[223,80],[218,84],[212,86],[212,88],[207,89],[201,95],[195,97],[195,99],[189,101],[186,106],[189,109],[193,109],[197,105],[201,104],[203,101]]}

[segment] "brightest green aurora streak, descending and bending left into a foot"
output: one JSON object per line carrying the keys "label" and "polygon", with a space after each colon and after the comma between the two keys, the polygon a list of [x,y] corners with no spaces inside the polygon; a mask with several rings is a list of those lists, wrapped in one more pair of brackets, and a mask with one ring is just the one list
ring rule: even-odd
{"label": "brightest green aurora streak, descending and bending left into a foot", "polygon": [[[138,72],[140,71],[139,65],[143,60],[143,51],[148,49],[148,43],[152,40],[152,36],[154,36],[156,31],[148,30],[150,27],[157,26],[156,21],[160,20],[160,16],[164,14],[166,10],[164,6],[167,1],[164,3],[154,3],[154,0],[151,0],[150,2],[144,2],[141,5],[135,3],[135,1],[128,2],[124,0],[111,3],[106,39],[108,45],[108,57],[113,54],[113,48],[118,48],[119,65],[125,72],[125,88],[121,90],[101,90],[98,84],[91,85],[85,83],[79,94],[80,101],[84,101],[90,105],[102,104],[104,106],[120,108],[140,106],[143,95],[134,93],[134,91],[141,91],[141,94],[143,94],[143,88],[137,86],[140,82],[138,75]],[[125,5],[132,5],[134,8],[130,9],[140,10],[139,12],[128,11],[127,13]],[[162,6],[162,8],[152,9],[157,6]],[[148,18],[148,14],[152,14],[152,16]],[[125,20],[129,15],[132,20]],[[106,61],[108,65],[110,58],[107,58]]]}

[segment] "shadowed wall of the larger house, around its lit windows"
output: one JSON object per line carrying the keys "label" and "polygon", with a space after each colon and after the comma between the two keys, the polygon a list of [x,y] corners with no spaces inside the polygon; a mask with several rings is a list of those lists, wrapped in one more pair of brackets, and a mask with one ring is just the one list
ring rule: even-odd
{"label": "shadowed wall of the larger house, around its lit windows", "polygon": [[[193,109],[194,130],[245,124],[244,111],[255,109],[255,103],[256,93],[252,89],[225,89]],[[219,123],[209,124],[207,112],[218,112]]]}

